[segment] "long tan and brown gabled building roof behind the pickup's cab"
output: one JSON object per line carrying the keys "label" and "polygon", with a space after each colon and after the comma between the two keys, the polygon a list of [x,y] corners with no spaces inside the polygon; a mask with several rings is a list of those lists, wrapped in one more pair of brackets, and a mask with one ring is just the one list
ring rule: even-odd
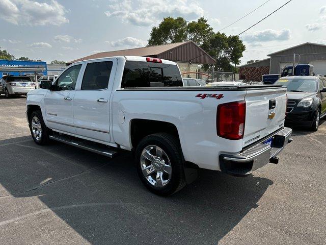
{"label": "long tan and brown gabled building roof behind the pickup's cab", "polygon": [[77,61],[105,58],[112,56],[149,56],[161,59],[181,62],[193,62],[198,64],[213,64],[215,60],[209,56],[201,47],[193,41],[177,42],[157,46],[131,48],[129,50],[118,50],[101,52],[83,58],[67,62],[70,65]]}

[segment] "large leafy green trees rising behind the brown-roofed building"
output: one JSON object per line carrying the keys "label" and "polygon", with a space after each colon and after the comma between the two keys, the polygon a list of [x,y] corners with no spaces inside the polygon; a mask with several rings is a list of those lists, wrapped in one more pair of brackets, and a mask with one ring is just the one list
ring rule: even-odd
{"label": "large leafy green trees rising behind the brown-roofed building", "polygon": [[[234,65],[240,63],[246,46],[238,36],[214,33],[207,19],[200,17],[197,21],[187,22],[183,17],[164,18],[158,27],[153,27],[148,46],[192,40],[216,60],[216,71],[233,71]],[[205,70],[209,69],[204,65]]]}

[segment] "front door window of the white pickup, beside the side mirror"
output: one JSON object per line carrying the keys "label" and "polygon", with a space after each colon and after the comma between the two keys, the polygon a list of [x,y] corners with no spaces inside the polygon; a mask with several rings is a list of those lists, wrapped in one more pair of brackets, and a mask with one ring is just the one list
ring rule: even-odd
{"label": "front door window of the white pickup, beside the side mirror", "polygon": [[74,65],[68,68],[57,79],[57,87],[59,90],[74,90],[77,83],[78,74],[82,65]]}

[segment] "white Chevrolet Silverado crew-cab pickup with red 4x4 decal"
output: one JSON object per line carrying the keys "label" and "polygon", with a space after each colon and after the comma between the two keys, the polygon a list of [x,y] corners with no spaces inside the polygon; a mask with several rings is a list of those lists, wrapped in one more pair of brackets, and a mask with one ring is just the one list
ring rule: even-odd
{"label": "white Chevrolet Silverado crew-cab pickup with red 4x4 decal", "polygon": [[71,64],[27,96],[37,144],[49,139],[114,157],[132,151],[138,174],[170,195],[198,168],[248,176],[291,141],[286,88],[183,87],[176,63],[119,56]]}

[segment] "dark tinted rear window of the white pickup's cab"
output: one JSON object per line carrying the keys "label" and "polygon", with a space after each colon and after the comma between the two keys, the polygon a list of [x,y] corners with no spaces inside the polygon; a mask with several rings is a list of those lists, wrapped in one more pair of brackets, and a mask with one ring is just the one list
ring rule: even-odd
{"label": "dark tinted rear window of the white pickup's cab", "polygon": [[121,88],[182,87],[182,78],[176,65],[126,61]]}

